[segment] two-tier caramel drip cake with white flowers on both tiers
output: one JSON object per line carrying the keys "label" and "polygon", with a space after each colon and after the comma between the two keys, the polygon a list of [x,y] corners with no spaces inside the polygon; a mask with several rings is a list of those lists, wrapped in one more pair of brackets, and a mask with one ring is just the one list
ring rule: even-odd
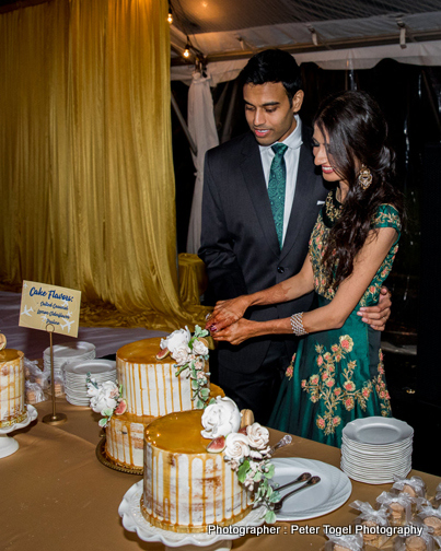
{"label": "two-tier caramel drip cake with white flowers on both tiers", "polygon": [[105,454],[113,464],[142,470],[144,427],[159,417],[202,408],[208,401],[207,333],[196,326],[194,335],[185,328],[165,339],[126,344],[116,353],[118,384],[89,385],[91,407],[103,415]]}

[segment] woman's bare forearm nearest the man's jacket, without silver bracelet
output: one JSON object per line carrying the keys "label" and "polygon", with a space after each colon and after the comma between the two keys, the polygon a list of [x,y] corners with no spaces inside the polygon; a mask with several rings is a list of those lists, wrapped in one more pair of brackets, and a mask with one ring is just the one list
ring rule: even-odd
{"label": "woman's bare forearm nearest the man's jacket, without silver bracelet", "polygon": [[310,256],[303,262],[302,269],[295,276],[277,283],[264,291],[241,295],[229,301],[219,301],[207,321],[207,329],[219,331],[243,317],[251,306],[265,306],[292,301],[313,291],[313,271]]}

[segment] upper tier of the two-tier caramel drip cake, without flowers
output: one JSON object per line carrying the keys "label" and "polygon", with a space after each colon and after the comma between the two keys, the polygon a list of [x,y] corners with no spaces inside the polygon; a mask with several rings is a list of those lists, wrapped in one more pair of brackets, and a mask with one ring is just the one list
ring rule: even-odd
{"label": "upper tier of the two-tier caramel drip cake, without flowers", "polygon": [[116,354],[117,379],[123,385],[128,413],[156,418],[195,409],[190,379],[175,376],[176,362],[172,357],[156,359],[160,342],[161,338],[131,342]]}

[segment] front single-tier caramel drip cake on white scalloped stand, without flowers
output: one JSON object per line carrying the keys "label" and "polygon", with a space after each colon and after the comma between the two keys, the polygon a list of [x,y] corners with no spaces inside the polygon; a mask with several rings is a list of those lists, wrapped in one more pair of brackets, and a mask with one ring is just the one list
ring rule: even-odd
{"label": "front single-tier caramel drip cake on white scalloped stand, without flowers", "polygon": [[176,532],[204,532],[228,526],[252,509],[222,454],[207,452],[201,410],[171,413],[146,429],[141,511],[153,526]]}

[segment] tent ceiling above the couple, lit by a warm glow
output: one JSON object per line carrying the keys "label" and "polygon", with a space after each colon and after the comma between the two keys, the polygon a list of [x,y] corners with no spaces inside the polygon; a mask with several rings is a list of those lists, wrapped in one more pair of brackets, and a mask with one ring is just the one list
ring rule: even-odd
{"label": "tent ceiling above the couple, lit by a warm glow", "polygon": [[[441,39],[440,0],[171,0],[172,63],[189,36],[207,61]],[[315,35],[313,35],[315,33]]]}

